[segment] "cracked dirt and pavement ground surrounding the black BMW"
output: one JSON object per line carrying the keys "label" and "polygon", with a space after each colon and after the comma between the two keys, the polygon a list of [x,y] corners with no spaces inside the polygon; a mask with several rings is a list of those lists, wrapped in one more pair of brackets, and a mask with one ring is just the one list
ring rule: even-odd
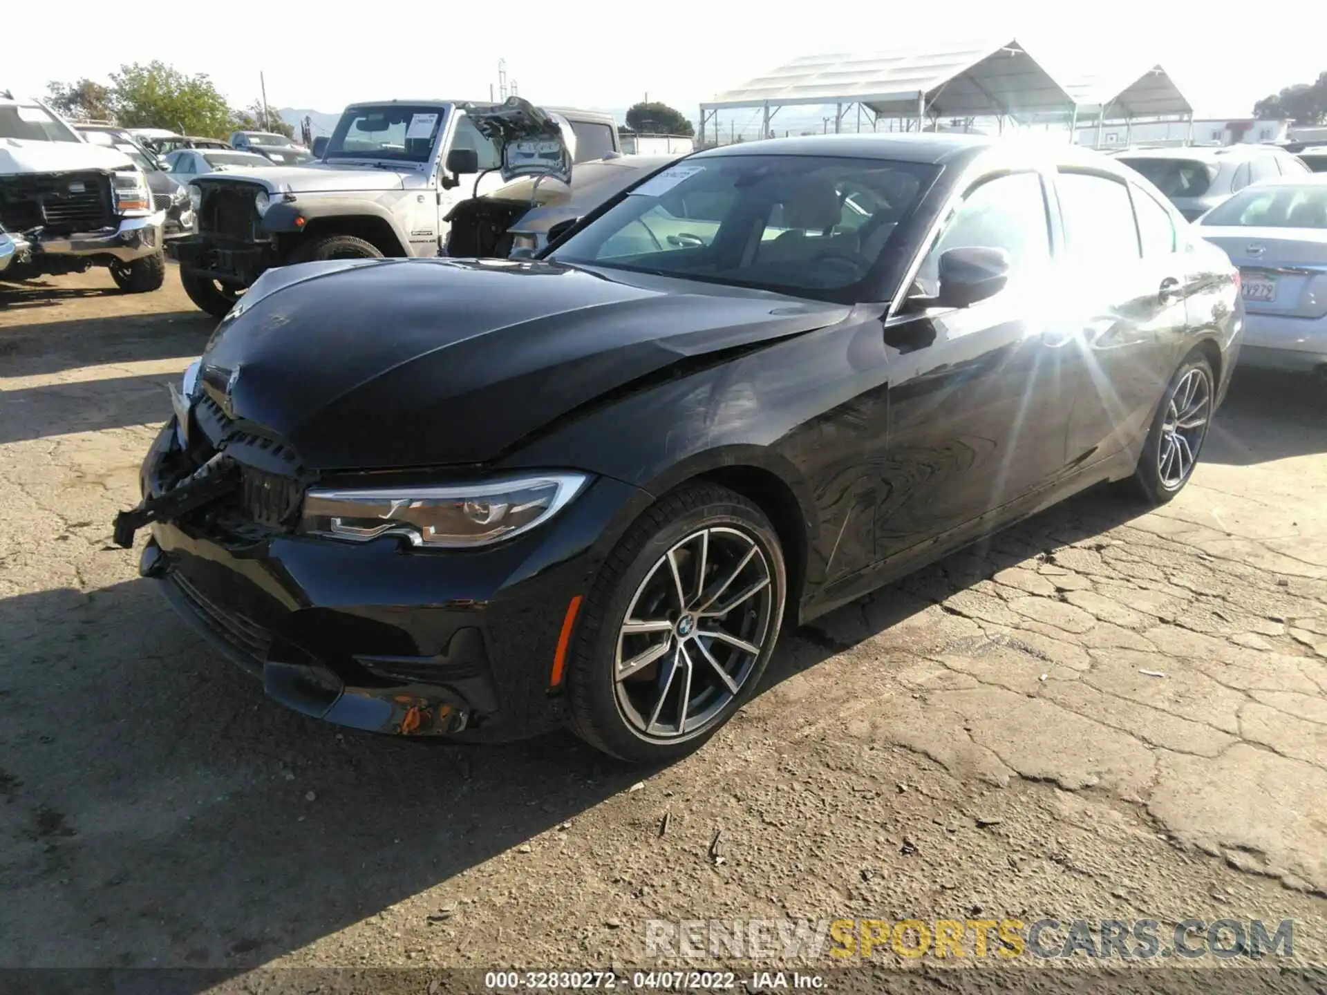
{"label": "cracked dirt and pavement ground surrounding the black BMW", "polygon": [[1327,964],[1320,383],[1237,375],[1170,505],[794,633],[640,771],[337,730],[204,649],[110,521],[212,322],[111,287],[0,287],[0,967],[681,967],[646,921],[790,917],[1294,919]]}

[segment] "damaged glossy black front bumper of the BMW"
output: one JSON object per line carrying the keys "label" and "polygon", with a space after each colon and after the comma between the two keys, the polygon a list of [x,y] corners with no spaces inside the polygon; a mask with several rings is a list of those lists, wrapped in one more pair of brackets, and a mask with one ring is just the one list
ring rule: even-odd
{"label": "damaged glossy black front bumper of the BMW", "polygon": [[163,504],[175,500],[163,482],[179,476],[167,467],[183,458],[175,426],[163,427],[142,467],[146,500],[135,512],[162,513],[133,523],[151,527],[139,572],[271,698],[394,735],[507,740],[563,720],[552,665],[568,605],[588,589],[602,557],[596,540],[638,499],[636,488],[600,478],[551,528],[460,553],[390,537],[239,539],[192,507],[211,486],[206,474],[186,478],[176,508]]}

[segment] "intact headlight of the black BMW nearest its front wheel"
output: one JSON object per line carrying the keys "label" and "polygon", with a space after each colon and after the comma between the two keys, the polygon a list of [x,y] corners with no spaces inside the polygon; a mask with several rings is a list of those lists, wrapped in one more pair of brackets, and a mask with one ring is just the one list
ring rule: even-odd
{"label": "intact headlight of the black BMW nearest its front wheel", "polygon": [[450,487],[309,491],[300,532],[354,543],[403,536],[439,549],[488,545],[551,519],[587,479],[557,472]]}

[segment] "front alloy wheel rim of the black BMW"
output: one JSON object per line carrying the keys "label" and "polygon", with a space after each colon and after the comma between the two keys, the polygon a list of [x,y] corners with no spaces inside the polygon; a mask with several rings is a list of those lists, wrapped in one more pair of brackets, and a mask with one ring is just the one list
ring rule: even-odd
{"label": "front alloy wheel rim of the black BMW", "polygon": [[734,527],[693,532],[660,557],[613,661],[617,704],[638,736],[690,738],[721,718],[774,634],[774,593],[768,557]]}

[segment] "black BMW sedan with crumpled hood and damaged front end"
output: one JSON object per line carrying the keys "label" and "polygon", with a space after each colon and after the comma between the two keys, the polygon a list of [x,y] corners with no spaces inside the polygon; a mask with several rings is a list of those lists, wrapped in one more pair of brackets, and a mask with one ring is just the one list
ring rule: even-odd
{"label": "black BMW sedan with crumpled hood and damaged front end", "polygon": [[694,748],[795,626],[1088,486],[1189,480],[1238,273],[1070,146],[689,157],[537,260],[265,273],[142,470],[142,573],[366,730]]}

